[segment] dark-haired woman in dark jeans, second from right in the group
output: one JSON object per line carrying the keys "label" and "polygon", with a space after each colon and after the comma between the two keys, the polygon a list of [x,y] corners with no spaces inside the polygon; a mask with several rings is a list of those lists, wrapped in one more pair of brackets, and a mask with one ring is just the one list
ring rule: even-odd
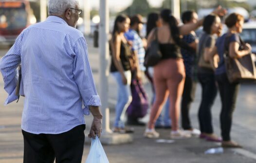
{"label": "dark-haired woman in dark jeans, second from right in the group", "polygon": [[215,81],[214,68],[210,64],[210,53],[215,46],[214,34],[221,33],[219,16],[208,15],[203,22],[203,33],[199,41],[199,60],[205,61],[205,65],[198,64],[198,79],[202,87],[201,104],[198,117],[201,130],[200,138],[208,141],[220,142],[221,139],[214,134],[212,126],[211,108],[217,96],[217,85]]}

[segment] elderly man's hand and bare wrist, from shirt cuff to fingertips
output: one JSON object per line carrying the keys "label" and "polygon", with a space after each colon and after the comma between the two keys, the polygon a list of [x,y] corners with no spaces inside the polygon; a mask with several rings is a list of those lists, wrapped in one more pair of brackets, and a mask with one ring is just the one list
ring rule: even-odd
{"label": "elderly man's hand and bare wrist, from shirt cuff to fingertips", "polygon": [[88,137],[95,139],[96,135],[100,137],[102,131],[102,114],[98,106],[89,106],[93,120],[91,124],[91,130]]}

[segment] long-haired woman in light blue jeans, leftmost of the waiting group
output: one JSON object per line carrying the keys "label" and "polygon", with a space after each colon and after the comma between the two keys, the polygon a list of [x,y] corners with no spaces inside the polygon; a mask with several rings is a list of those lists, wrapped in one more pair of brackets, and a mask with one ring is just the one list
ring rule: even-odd
{"label": "long-haired woman in light blue jeans, leftmost of the waiting group", "polygon": [[129,102],[131,101],[130,82],[131,82],[131,49],[124,33],[128,31],[130,19],[127,16],[119,15],[115,19],[111,46],[111,65],[110,72],[115,79],[118,87],[117,104],[115,107],[115,122],[113,132],[125,133],[133,130],[125,128],[124,116]]}

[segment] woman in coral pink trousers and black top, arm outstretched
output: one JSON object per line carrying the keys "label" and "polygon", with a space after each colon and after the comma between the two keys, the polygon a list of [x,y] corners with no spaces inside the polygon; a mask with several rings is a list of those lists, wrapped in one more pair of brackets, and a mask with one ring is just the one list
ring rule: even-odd
{"label": "woman in coral pink trousers and black top, arm outstretched", "polygon": [[[223,9],[219,7],[214,12],[222,14]],[[186,35],[196,30],[202,25],[203,19],[194,23],[178,26],[177,19],[171,15],[169,9],[164,9],[160,16],[163,26],[152,30],[148,36],[148,45],[150,45],[157,34],[159,49],[163,56],[162,60],[154,66],[153,80],[156,100],[151,109],[150,119],[144,136],[148,138],[159,137],[159,133],[154,130],[154,124],[169,95],[169,111],[172,120],[171,138],[187,138],[190,137],[191,134],[179,130],[180,101],[185,81],[185,68],[181,54],[181,47],[183,46],[181,35]]]}

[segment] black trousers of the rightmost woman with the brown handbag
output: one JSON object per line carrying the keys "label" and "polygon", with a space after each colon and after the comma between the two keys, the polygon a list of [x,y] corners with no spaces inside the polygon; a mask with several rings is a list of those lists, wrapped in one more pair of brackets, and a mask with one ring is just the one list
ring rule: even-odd
{"label": "black trousers of the rightmost woman with the brown handbag", "polygon": [[217,75],[216,79],[218,81],[222,103],[220,112],[221,136],[224,141],[229,141],[231,140],[230,131],[232,126],[232,117],[236,107],[240,84],[230,83],[226,73]]}

